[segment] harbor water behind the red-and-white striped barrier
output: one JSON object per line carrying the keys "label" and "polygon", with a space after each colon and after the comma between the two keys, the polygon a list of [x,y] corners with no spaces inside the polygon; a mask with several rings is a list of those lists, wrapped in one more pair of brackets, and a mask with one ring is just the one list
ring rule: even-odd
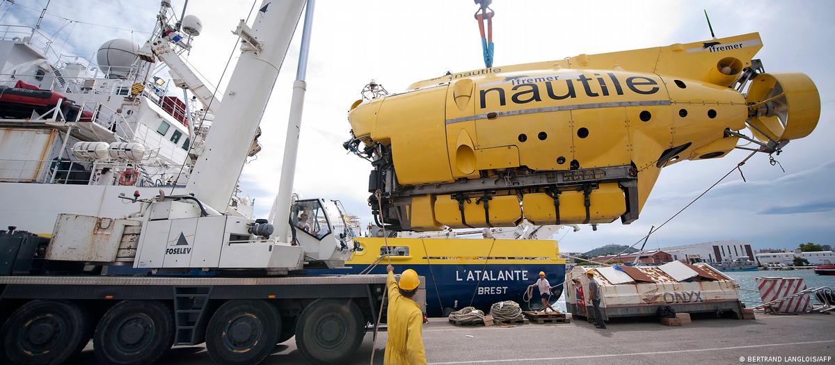
{"label": "harbor water behind the red-and-white striped barrier", "polygon": [[[802,278],[803,281],[806,282],[807,288],[829,287],[835,289],[835,275],[817,275],[812,269],[760,270],[723,273],[734,279],[736,284],[739,285],[739,288],[748,289],[740,290],[739,296],[742,303],[745,303],[746,307],[749,308],[756,307],[758,304],[762,303],[762,300],[760,300],[760,293],[751,291],[757,290],[757,278]],[[812,300],[812,303],[817,302]],[[522,305],[524,308],[524,303],[522,303]],[[559,301],[557,301],[556,305],[554,305],[554,308],[567,312],[565,308],[565,296],[559,298]],[[527,310],[526,308],[524,309]]]}

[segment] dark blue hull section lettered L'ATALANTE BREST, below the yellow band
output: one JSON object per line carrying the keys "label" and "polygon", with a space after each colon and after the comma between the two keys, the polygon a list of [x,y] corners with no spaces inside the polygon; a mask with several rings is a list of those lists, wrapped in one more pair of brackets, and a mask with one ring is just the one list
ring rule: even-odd
{"label": "dark blue hull section lettered L'ATALANTE BREST, below the yellow band", "polygon": [[[310,269],[308,275],[357,274],[366,265],[352,265],[346,269]],[[430,269],[431,267],[431,269]],[[418,275],[426,278],[426,310],[428,317],[443,317],[444,309],[458,310],[475,307],[488,313],[493,303],[512,300],[523,310],[542,308],[539,290],[533,289],[533,299],[528,304],[523,301],[523,294],[528,286],[536,283],[539,272],[545,272],[551,286],[563,283],[564,264],[397,264],[396,273],[411,268]],[[386,263],[380,263],[371,273],[386,273]],[[551,303],[559,299],[562,286],[554,289]]]}

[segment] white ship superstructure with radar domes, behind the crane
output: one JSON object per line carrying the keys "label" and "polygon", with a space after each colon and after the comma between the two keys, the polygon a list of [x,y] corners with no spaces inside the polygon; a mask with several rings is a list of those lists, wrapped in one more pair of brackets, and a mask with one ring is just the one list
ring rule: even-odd
{"label": "white ship superstructure with radar domes, behind the crane", "polygon": [[[201,28],[163,1],[144,45],[113,39],[81,57],[57,54],[38,28],[0,24],[0,227],[52,233],[58,213],[133,213],[123,193],[184,193],[220,107],[183,60]],[[250,199],[227,213],[250,217]]]}

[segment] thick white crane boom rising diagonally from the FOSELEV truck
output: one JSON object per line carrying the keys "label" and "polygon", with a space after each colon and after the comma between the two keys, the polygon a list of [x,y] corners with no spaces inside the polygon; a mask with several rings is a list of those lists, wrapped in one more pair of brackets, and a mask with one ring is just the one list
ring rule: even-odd
{"label": "thick white crane boom rising diagonally from the FOSELEV truck", "polygon": [[225,210],[235,190],[304,3],[265,1],[252,28],[241,21],[235,30],[242,42],[240,59],[188,183],[188,190],[212,208]]}

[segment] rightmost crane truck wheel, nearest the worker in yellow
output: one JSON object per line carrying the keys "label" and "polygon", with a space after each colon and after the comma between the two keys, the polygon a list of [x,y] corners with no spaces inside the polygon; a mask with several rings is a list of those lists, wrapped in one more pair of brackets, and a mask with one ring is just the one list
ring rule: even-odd
{"label": "rightmost crane truck wheel, nearest the worker in yellow", "polygon": [[351,300],[317,299],[301,311],[296,347],[311,363],[346,363],[365,335],[362,312]]}

